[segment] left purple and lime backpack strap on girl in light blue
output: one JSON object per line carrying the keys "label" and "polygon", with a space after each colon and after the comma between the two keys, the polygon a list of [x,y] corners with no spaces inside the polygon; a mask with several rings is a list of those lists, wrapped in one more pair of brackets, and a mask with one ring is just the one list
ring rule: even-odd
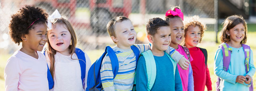
{"label": "left purple and lime backpack strap on girl in light blue", "polygon": [[221,47],[222,55],[223,55],[223,70],[228,71],[232,48],[229,48],[227,43],[222,43],[222,44],[220,44],[219,47]]}

